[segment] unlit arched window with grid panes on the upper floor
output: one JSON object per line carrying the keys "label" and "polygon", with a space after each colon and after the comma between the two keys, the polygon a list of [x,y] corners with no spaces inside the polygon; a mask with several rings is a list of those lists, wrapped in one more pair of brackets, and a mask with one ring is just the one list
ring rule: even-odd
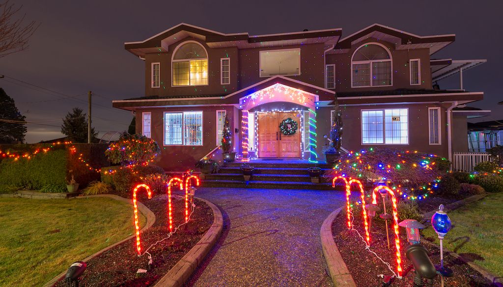
{"label": "unlit arched window with grid panes on the upper floor", "polygon": [[365,44],[356,49],[351,59],[351,86],[391,85],[391,55],[378,43]]}

